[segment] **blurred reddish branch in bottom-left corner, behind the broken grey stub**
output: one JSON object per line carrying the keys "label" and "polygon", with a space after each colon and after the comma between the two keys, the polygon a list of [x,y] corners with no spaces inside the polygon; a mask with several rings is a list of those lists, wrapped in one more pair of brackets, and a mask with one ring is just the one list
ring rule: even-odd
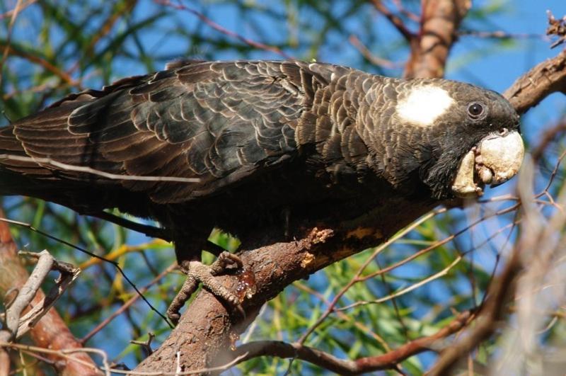
{"label": "blurred reddish branch in bottom-left corner, behind the broken grey stub", "polygon": [[[4,213],[0,212],[0,216],[4,217]],[[6,292],[13,289],[13,287],[21,288],[29,278],[28,272],[23,268],[18,258],[16,249],[17,246],[12,240],[8,225],[4,222],[0,222],[0,295],[2,297],[6,295]],[[39,290],[32,304],[40,304],[44,298],[45,295]],[[33,326],[30,330],[30,336],[38,347],[50,348],[55,351],[82,347],[54,309],[50,309],[47,314]],[[57,355],[47,355],[47,358],[54,361],[57,370],[62,375],[99,374],[95,371],[96,364],[86,353],[76,353],[73,356],[79,358],[82,362],[87,362],[87,364],[91,366],[64,360]]]}

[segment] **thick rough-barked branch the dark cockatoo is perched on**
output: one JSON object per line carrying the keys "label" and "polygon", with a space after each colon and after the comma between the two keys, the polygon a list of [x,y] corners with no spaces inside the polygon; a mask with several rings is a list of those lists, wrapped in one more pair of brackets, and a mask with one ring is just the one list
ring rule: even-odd
{"label": "thick rough-barked branch the dark cockatoo is perched on", "polygon": [[[183,371],[206,368],[212,361],[228,363],[232,358],[231,341],[255,319],[267,300],[294,280],[307,278],[331,263],[381,244],[434,205],[431,202],[391,203],[372,213],[371,217],[379,218],[372,227],[362,227],[357,222],[343,223],[333,229],[310,227],[302,231],[304,236],[296,238],[298,240],[242,251],[240,256],[246,268],[255,274],[258,289],[250,300],[243,302],[246,319],[237,314],[231,316],[213,295],[201,291],[187,307],[171,336],[136,371],[174,372],[176,356]],[[269,244],[270,239],[280,239],[281,232],[279,228],[270,229],[253,244]],[[236,278],[227,276],[224,281],[226,287],[235,288]]]}

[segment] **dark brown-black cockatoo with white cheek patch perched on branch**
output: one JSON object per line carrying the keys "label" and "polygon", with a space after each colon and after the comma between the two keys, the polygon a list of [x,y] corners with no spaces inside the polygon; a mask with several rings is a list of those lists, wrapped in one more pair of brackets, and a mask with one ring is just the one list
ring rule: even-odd
{"label": "dark brown-black cockatoo with white cheek patch perched on branch", "polygon": [[283,232],[289,217],[331,224],[396,198],[475,197],[519,169],[518,131],[502,96],[456,81],[306,62],[175,62],[3,128],[0,194],[157,220],[188,292],[200,281],[238,306],[211,278],[238,258],[222,253],[212,272],[200,263],[214,227],[245,239],[265,223]]}

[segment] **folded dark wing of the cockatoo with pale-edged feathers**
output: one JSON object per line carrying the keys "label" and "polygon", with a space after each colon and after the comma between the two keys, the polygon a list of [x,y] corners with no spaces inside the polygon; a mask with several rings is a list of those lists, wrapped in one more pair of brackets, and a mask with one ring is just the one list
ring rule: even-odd
{"label": "folded dark wing of the cockatoo with pale-edged feathers", "polygon": [[119,182],[155,203],[191,200],[294,158],[295,127],[312,104],[313,86],[323,80],[294,62],[175,64],[103,91],[73,94],[14,123],[0,132],[1,151],[32,156],[40,166],[2,163],[37,178],[96,178],[110,186],[117,181],[41,159],[120,175],[199,178]]}

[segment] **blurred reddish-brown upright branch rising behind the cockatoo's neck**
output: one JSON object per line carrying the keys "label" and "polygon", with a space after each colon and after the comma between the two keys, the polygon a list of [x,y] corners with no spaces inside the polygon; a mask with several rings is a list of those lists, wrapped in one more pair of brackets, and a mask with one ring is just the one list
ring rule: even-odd
{"label": "blurred reddish-brown upright branch rising behind the cockatoo's neck", "polygon": [[444,76],[446,59],[461,21],[471,7],[470,0],[424,0],[420,33],[412,42],[405,66],[405,78]]}

